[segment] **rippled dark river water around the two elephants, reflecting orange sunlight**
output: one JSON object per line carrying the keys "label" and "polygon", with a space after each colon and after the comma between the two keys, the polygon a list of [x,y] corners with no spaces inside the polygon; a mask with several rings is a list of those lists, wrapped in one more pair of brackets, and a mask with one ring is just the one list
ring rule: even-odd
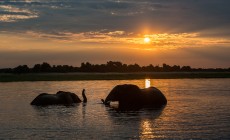
{"label": "rippled dark river water around the two elephants, reflecting orange sunlight", "polygon": [[[151,80],[161,110],[116,112],[100,103],[117,84],[143,80],[0,83],[0,139],[230,139],[230,79]],[[87,104],[34,107],[41,92],[81,95]],[[81,96],[80,96],[81,97]]]}

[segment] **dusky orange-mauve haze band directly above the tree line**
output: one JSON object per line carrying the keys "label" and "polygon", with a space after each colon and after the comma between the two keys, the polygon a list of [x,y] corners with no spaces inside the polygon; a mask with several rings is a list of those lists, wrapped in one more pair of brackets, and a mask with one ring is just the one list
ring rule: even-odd
{"label": "dusky orange-mauve haze band directly above the tree line", "polygon": [[[137,53],[138,52],[138,53]],[[81,62],[102,64],[107,61],[121,61],[123,63],[140,65],[191,65],[193,67],[225,67],[230,66],[229,47],[206,48],[178,48],[169,51],[144,51],[135,49],[108,49],[95,48],[78,51],[1,51],[1,67],[16,67],[19,64],[27,64],[30,67],[36,63],[48,62],[53,65],[79,66]],[[144,54],[144,55],[143,55]],[[181,59],[183,58],[183,59]],[[29,61],[28,61],[29,60]]]}

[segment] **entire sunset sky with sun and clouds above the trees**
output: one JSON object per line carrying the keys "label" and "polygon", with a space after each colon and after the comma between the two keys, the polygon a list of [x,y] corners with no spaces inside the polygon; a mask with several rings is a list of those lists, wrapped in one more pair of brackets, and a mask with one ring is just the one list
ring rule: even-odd
{"label": "entire sunset sky with sun and clouds above the trees", "polygon": [[0,68],[230,67],[230,0],[0,0]]}

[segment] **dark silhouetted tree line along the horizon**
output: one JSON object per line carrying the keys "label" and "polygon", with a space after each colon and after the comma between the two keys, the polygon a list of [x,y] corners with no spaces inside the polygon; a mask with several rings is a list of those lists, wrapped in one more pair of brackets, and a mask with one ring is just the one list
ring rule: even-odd
{"label": "dark silhouetted tree line along the horizon", "polygon": [[32,68],[27,65],[19,65],[15,68],[0,69],[0,73],[69,73],[69,72],[230,72],[230,68],[191,68],[190,66],[179,65],[148,65],[140,66],[138,64],[123,64],[118,61],[108,61],[106,64],[91,64],[89,62],[81,63],[80,67],[69,65],[53,65],[47,62],[35,64]]}

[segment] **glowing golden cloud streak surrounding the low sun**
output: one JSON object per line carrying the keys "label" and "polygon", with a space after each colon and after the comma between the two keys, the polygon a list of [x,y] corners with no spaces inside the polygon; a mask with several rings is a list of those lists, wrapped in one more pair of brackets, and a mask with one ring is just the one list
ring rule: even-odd
{"label": "glowing golden cloud streak surrounding the low sun", "polygon": [[[103,45],[106,48],[111,48],[112,44],[119,47],[133,48],[133,49],[175,49],[187,47],[212,47],[212,46],[230,46],[228,38],[204,37],[200,33],[161,33],[161,34],[135,34],[125,31],[91,31],[91,32],[56,32],[50,34],[38,33],[28,31],[27,36],[50,40],[65,44],[81,44],[92,43]],[[146,44],[144,37],[150,38],[150,42]],[[116,47],[118,47],[116,46]]]}

